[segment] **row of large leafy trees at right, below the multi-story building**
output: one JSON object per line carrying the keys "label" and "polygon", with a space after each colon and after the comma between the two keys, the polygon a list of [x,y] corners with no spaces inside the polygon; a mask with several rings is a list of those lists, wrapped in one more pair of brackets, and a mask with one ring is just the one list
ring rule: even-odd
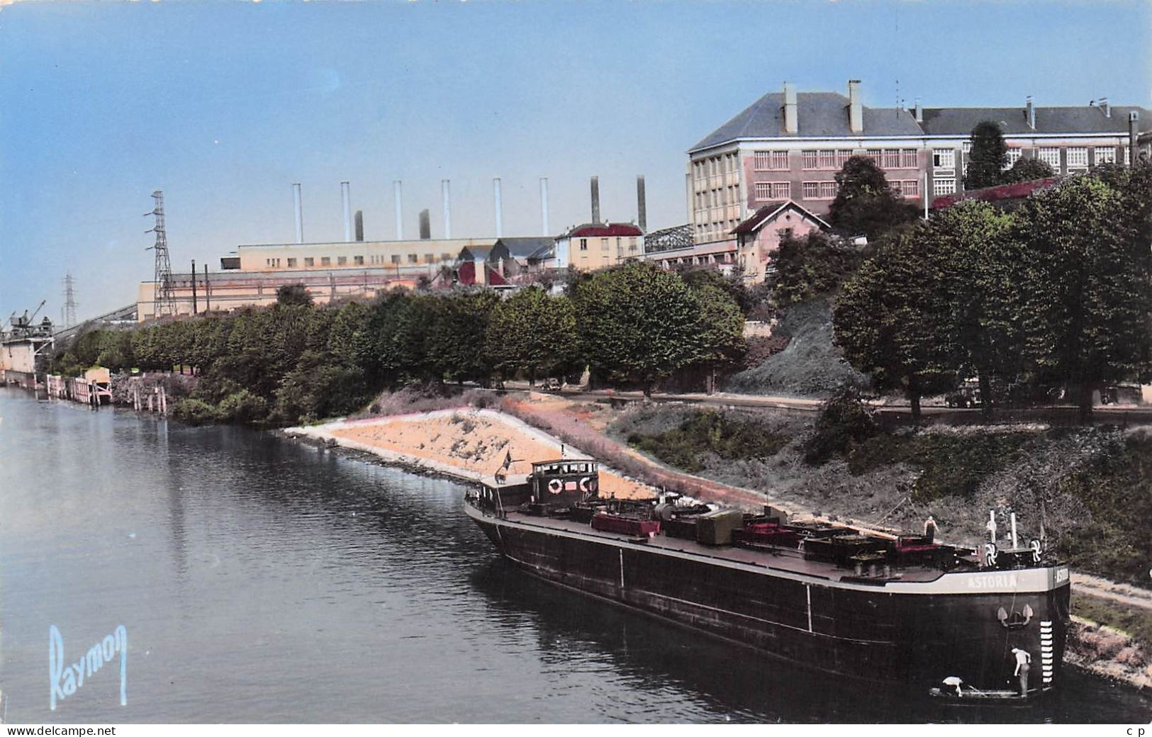
{"label": "row of large leafy trees at right, below the multi-story building", "polygon": [[984,405],[1092,394],[1150,368],[1152,167],[1104,166],[1015,212],[969,200],[888,230],[836,299],[836,342],[879,389],[976,378]]}

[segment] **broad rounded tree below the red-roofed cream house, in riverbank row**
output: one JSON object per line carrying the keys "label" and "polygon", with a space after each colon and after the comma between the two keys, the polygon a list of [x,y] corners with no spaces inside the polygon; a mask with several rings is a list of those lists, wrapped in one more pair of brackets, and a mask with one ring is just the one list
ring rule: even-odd
{"label": "broad rounded tree below the red-roofed cream house, in riverbank row", "polygon": [[705,357],[700,307],[683,279],[634,261],[573,284],[577,329],[594,377],[639,381],[645,395]]}

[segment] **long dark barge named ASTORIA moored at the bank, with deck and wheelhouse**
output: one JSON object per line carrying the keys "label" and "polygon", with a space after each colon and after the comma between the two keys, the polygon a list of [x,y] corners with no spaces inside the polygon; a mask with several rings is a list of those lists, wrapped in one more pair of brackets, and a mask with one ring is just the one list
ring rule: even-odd
{"label": "long dark barge named ASTORIA moored at the bank, with deck and wheelhouse", "polygon": [[596,461],[533,463],[465,511],[535,576],[810,669],[963,702],[1060,683],[1068,568],[1015,530],[1006,549],[973,550],[771,508],[602,499],[597,484]]}

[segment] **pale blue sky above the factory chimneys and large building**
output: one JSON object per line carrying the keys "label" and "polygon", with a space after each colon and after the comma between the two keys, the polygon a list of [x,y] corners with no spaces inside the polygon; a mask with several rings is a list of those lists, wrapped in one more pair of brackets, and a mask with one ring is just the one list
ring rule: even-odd
{"label": "pale blue sky above the factory chimneys and large building", "polygon": [[[174,271],[238,244],[365,237],[429,208],[455,237],[553,235],[602,215],[688,221],[687,150],[768,91],[926,107],[1152,108],[1152,0],[0,0],[0,320],[136,299],[162,190]],[[203,268],[203,266],[199,266]]]}

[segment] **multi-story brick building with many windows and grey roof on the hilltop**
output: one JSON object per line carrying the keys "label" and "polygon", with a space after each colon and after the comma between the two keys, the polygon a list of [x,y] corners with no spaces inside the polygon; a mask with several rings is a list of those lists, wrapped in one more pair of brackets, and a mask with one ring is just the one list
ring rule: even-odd
{"label": "multi-story brick building with many windows and grey roof on the hilltop", "polygon": [[786,83],[689,151],[685,193],[696,243],[732,241],[732,231],[770,202],[791,199],[825,214],[835,174],[849,157],[870,155],[893,189],[923,202],[963,190],[969,135],[991,120],[1003,131],[1008,162],[1047,161],[1056,174],[1131,160],[1147,146],[1152,113],[1100,100],[1083,107],[866,107],[858,81],[848,96],[797,92]]}

